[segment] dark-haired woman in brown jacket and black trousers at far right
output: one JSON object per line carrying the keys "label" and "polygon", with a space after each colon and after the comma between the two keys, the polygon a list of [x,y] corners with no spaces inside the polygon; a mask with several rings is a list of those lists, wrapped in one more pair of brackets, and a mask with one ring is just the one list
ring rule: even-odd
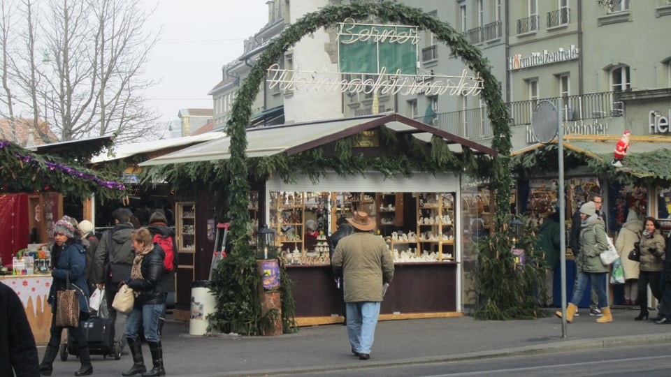
{"label": "dark-haired woman in brown jacket and black trousers at far right", "polygon": [[[662,298],[662,290],[659,286],[659,280],[662,274],[662,256],[664,255],[665,242],[659,222],[650,216],[646,216],[643,222],[643,233],[641,235],[640,274],[638,276],[638,304],[641,311],[635,320],[648,318],[648,285],[652,295],[657,300]],[[661,313],[653,320],[661,320]]]}

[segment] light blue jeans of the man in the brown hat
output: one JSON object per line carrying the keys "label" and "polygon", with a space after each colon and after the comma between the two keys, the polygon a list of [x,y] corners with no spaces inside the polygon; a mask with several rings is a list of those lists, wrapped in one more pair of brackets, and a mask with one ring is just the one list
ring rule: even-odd
{"label": "light blue jeans of the man in the brown hat", "polygon": [[346,302],[347,337],[352,350],[370,353],[375,338],[377,317],[380,316],[380,302]]}

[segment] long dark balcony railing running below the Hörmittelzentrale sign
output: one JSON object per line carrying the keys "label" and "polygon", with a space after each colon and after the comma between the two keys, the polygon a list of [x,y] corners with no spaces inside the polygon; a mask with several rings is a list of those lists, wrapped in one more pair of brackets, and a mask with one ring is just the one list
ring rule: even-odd
{"label": "long dark balcony railing running below the H\u00f6rmittelzentrale sign", "polygon": [[[544,98],[558,105],[560,97]],[[541,100],[516,101],[507,103],[511,126],[531,124],[531,113]],[[613,91],[568,96],[562,98],[561,116],[563,121],[581,121],[605,117],[623,117],[624,103]],[[431,117],[416,117],[418,121],[435,126],[442,131],[467,138],[482,140],[492,137],[491,122],[486,108],[475,108],[452,112],[442,112]]]}

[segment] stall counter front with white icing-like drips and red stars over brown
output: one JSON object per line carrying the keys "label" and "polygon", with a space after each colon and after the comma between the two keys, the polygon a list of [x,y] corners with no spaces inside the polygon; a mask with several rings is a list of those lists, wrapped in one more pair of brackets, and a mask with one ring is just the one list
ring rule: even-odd
{"label": "stall counter front with white icing-like drips and red stars over brown", "polygon": [[47,304],[52,277],[44,275],[6,275],[0,276],[0,282],[6,284],[19,296],[26,311],[35,343],[45,345],[49,342],[51,327],[51,306]]}

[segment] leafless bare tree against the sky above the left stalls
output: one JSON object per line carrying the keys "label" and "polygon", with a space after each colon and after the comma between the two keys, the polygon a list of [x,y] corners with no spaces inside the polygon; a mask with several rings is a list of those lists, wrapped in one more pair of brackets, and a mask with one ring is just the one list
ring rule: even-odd
{"label": "leafless bare tree against the sky above the left stalls", "polygon": [[[36,3],[43,7],[39,24]],[[9,98],[10,84],[17,86],[36,135],[51,131],[66,141],[114,134],[120,142],[152,135],[157,115],[143,92],[154,83],[142,75],[157,34],[143,31],[149,14],[140,0],[22,0],[19,8],[24,53],[3,59],[5,93]],[[37,45],[45,49],[42,61]],[[39,127],[40,116],[50,130]]]}

